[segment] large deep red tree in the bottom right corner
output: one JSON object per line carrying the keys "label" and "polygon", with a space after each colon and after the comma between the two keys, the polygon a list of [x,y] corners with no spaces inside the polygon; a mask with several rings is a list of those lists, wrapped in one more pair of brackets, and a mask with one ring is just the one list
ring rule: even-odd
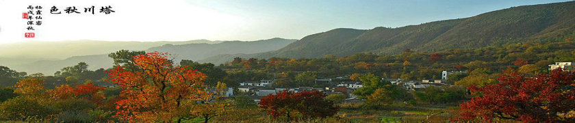
{"label": "large deep red tree in the bottom right corner", "polygon": [[500,83],[470,87],[478,94],[463,102],[457,121],[575,122],[575,72],[554,70],[551,74],[524,77],[515,72]]}

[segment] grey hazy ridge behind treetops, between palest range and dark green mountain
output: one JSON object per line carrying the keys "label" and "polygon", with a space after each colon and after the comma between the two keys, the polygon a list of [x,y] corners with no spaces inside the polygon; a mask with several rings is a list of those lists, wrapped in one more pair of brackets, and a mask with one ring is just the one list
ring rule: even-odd
{"label": "grey hazy ridge behind treetops, between palest range and dark green mountain", "polygon": [[[171,53],[177,62],[181,59],[191,59],[198,61],[206,57],[211,57],[213,55],[220,55],[226,53],[261,53],[267,51],[274,51],[281,49],[282,47],[295,42],[296,40],[288,40],[282,38],[272,38],[269,40],[257,40],[257,41],[218,41],[220,43],[213,43],[208,41],[210,44],[164,44],[162,46],[151,47],[149,49],[140,50],[146,52],[165,52]],[[123,49],[133,49],[131,46],[125,46]],[[118,49],[119,51],[120,49]],[[138,51],[138,50],[136,50]],[[23,71],[28,73],[42,72],[44,74],[53,74],[57,70],[60,70],[66,66],[74,66],[79,62],[86,62],[89,65],[88,69],[96,70],[98,68],[110,68],[113,65],[112,59],[107,57],[109,53],[115,51],[109,51],[106,53],[101,53],[99,55],[82,55],[69,57],[66,59],[56,59],[56,60],[40,60],[34,62],[26,62],[23,64],[12,64],[3,65],[8,66],[13,70]],[[0,59],[0,61],[2,61]],[[7,60],[10,61],[10,60]]]}

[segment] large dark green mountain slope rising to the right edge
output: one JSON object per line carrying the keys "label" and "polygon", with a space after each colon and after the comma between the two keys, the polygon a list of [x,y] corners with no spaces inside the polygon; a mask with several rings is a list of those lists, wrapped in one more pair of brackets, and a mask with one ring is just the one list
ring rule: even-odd
{"label": "large dark green mountain slope rising to the right edge", "polygon": [[404,49],[433,52],[526,41],[575,37],[575,1],[525,5],[470,18],[440,20],[398,28],[333,29],[305,36],[283,49],[256,54],[218,55],[203,61],[223,63],[230,57],[338,57],[370,52],[395,55]]}

